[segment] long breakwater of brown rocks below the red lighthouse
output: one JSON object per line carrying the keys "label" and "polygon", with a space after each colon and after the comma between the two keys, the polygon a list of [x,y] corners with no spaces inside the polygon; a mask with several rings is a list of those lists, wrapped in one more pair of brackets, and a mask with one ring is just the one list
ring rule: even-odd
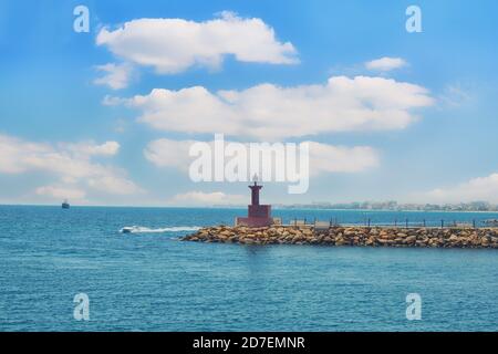
{"label": "long breakwater of brown rocks below the red lighthouse", "polygon": [[434,247],[498,249],[496,228],[393,228],[334,226],[215,226],[181,238],[184,241],[240,244],[323,244],[363,247]]}

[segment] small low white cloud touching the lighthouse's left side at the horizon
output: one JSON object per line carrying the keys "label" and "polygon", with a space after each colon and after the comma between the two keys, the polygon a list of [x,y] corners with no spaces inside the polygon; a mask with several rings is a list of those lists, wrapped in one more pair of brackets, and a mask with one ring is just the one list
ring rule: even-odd
{"label": "small low white cloud touching the lighthouse's left side at the horizon", "polygon": [[228,195],[222,191],[204,192],[187,191],[178,194],[172,202],[183,206],[227,206],[227,205],[246,205],[248,197],[242,195]]}

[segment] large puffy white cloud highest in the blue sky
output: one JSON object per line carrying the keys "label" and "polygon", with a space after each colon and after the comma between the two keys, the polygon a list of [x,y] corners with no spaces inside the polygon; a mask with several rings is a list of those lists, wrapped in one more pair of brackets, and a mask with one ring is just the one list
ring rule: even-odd
{"label": "large puffy white cloud highest in the blue sky", "polygon": [[232,12],[195,22],[184,19],[136,19],[123,27],[103,28],[96,38],[116,56],[174,74],[194,65],[218,67],[227,54],[241,62],[297,63],[295,49],[281,43],[261,19],[242,19]]}

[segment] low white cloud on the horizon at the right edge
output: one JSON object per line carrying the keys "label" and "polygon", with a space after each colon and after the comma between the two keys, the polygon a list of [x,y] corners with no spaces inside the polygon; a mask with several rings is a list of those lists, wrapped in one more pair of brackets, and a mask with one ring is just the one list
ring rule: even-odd
{"label": "low white cloud on the horizon at the right edge", "polygon": [[484,200],[498,202],[498,173],[473,178],[449,188],[437,188],[424,195],[430,202],[468,202]]}

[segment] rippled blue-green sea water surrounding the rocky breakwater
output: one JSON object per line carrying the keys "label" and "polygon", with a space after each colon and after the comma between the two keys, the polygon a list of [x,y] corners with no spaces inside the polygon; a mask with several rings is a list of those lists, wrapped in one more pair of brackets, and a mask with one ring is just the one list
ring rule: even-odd
{"label": "rippled blue-green sea water surrounding the rocky breakwater", "polygon": [[[1,331],[497,331],[498,251],[181,242],[237,209],[0,207]],[[492,214],[276,210],[340,222]],[[121,233],[137,226],[135,233]],[[73,316],[90,298],[90,321]],[[408,321],[406,295],[422,296]]]}

